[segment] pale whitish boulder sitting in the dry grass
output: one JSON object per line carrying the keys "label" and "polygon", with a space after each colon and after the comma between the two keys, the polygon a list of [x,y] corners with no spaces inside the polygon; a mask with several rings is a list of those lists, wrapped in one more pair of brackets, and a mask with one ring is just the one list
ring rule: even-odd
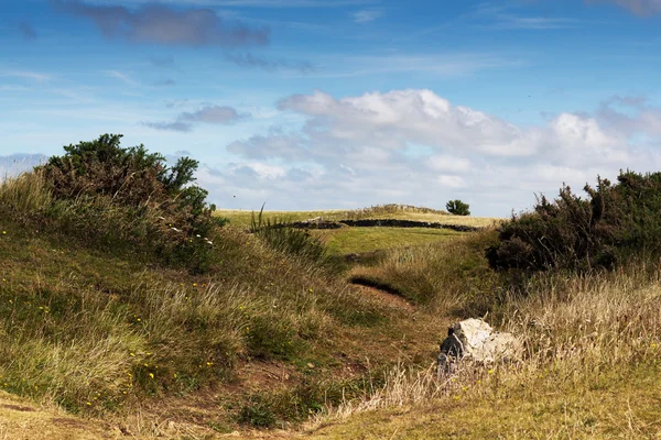
{"label": "pale whitish boulder sitting in the dry grass", "polygon": [[517,359],[521,350],[521,341],[513,334],[494,331],[481,319],[466,319],[447,329],[438,354],[438,374],[449,372],[460,360],[489,364]]}

